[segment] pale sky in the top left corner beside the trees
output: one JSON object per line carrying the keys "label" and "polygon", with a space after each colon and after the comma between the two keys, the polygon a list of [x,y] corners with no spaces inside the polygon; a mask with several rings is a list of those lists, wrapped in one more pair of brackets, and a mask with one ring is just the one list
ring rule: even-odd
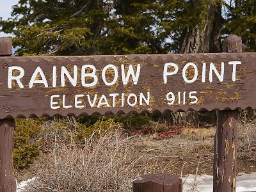
{"label": "pale sky in the top left corner beside the trees", "polygon": [[[8,19],[8,17],[11,16],[12,6],[18,2],[19,0],[0,0],[0,17],[2,17],[3,20]],[[10,36],[10,34],[4,34],[0,31],[0,37],[1,36]]]}

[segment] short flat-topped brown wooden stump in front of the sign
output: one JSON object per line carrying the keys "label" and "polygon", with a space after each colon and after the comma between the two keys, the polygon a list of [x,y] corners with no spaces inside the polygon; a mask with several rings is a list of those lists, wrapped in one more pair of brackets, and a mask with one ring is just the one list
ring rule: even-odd
{"label": "short flat-topped brown wooden stump in front of the sign", "polygon": [[150,174],[136,177],[133,192],[182,192],[182,179],[170,174]]}

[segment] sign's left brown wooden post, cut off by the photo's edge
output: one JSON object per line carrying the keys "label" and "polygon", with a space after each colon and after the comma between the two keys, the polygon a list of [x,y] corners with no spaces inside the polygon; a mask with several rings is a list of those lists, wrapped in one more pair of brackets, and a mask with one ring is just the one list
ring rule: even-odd
{"label": "sign's left brown wooden post, cut off by the photo's edge", "polygon": [[[12,56],[12,40],[10,38],[0,38],[0,56]],[[8,65],[8,63],[0,63],[0,70],[5,69],[6,64]],[[1,66],[3,67],[1,68]],[[0,84],[3,83],[0,82]],[[8,112],[6,109],[0,110]],[[12,157],[14,129],[13,118],[0,120],[0,192],[15,192],[17,190]]]}

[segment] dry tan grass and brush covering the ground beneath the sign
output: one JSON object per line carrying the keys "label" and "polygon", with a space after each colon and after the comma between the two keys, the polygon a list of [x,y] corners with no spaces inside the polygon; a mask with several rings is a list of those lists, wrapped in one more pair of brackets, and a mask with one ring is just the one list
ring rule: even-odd
{"label": "dry tan grass and brush covering the ground beneath the sign", "polygon": [[[239,156],[256,160],[256,122],[239,120]],[[246,120],[245,120],[246,119]],[[75,127],[75,129],[74,129]],[[165,125],[157,124],[156,130]],[[42,127],[45,152],[36,162],[38,179],[26,191],[132,191],[132,179],[145,173],[211,174],[215,128],[184,129],[155,140],[154,134],[125,136],[105,132],[95,140],[74,140],[76,121],[52,121]],[[191,191],[196,191],[198,182]]]}

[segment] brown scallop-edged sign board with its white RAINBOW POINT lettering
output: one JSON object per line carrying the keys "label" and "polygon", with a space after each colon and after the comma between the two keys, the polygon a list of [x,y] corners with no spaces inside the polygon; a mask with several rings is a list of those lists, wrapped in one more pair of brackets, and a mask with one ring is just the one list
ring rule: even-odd
{"label": "brown scallop-edged sign board with its white RAINBOW POINT lettering", "polygon": [[2,57],[0,118],[253,108],[255,58],[255,53]]}

